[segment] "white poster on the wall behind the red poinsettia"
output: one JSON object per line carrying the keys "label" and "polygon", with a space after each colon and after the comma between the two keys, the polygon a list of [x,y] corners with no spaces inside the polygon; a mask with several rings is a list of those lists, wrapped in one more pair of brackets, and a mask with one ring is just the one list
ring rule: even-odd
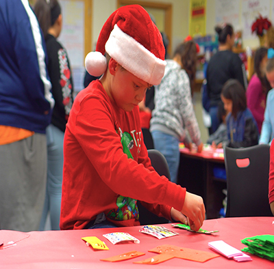
{"label": "white poster on the wall behind the red poinsettia", "polygon": [[269,18],[271,8],[270,0],[242,0],[242,36],[243,38],[257,38],[256,33],[251,33],[251,26],[258,18],[259,14],[262,17]]}

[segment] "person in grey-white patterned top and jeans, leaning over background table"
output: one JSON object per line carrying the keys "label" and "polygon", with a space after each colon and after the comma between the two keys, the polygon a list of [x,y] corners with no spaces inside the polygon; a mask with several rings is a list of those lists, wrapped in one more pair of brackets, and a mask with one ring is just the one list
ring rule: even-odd
{"label": "person in grey-white patterned top and jeans, leaning over background table", "polygon": [[[155,86],[155,109],[150,131],[154,147],[162,152],[169,165],[171,181],[177,182],[179,142],[192,149],[192,142],[201,152],[201,133],[193,109],[190,78],[195,78],[197,48],[193,41],[179,44],[173,59],[166,60],[164,77]],[[188,131],[192,141],[189,141]]]}

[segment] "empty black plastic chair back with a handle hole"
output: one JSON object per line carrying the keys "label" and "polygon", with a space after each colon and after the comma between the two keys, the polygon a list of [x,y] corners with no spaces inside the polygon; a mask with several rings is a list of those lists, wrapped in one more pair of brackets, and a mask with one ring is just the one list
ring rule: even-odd
{"label": "empty black plastic chair back with a handle hole", "polygon": [[226,217],[273,216],[269,206],[269,145],[225,147]]}

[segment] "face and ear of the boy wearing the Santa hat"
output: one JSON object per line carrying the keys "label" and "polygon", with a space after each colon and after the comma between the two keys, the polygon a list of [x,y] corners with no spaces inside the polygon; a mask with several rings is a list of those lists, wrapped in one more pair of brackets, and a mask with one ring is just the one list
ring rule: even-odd
{"label": "face and ear of the boy wearing the Santa hat", "polygon": [[112,80],[109,89],[106,89],[108,95],[121,109],[132,111],[144,99],[147,89],[152,85],[138,79],[114,59],[110,59],[109,69]]}

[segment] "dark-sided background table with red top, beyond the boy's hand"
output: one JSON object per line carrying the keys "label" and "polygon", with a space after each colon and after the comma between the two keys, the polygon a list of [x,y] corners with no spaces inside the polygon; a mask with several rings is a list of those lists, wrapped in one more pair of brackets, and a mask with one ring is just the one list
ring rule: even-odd
{"label": "dark-sided background table with red top, beyond the boy's hand", "polygon": [[225,171],[223,154],[208,148],[201,153],[180,148],[180,163],[177,183],[190,193],[203,197],[207,218],[218,218],[223,207],[227,187],[226,180],[214,176],[213,169]]}

